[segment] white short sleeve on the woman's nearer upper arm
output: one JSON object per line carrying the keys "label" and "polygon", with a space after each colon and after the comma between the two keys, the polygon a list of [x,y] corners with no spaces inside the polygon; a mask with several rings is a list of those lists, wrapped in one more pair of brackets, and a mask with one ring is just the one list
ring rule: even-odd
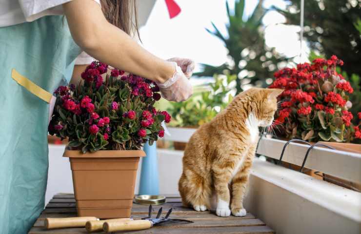
{"label": "white short sleeve on the woman's nearer upper arm", "polygon": [[[62,4],[71,0],[19,0],[26,21],[31,22],[43,16],[63,15]],[[100,0],[94,0],[100,4]]]}

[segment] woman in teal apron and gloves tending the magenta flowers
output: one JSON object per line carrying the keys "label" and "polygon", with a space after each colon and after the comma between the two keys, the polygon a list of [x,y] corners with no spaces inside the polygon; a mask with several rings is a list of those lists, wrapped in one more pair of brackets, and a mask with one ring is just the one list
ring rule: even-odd
{"label": "woman in teal apron and gloves tending the magenta flowers", "polygon": [[[99,0],[0,0],[0,5],[0,233],[23,234],[44,206],[46,94],[69,83],[80,53],[155,81],[163,97],[174,101],[192,94],[187,77],[194,63],[159,59],[131,39],[127,0],[101,5]],[[84,56],[78,60],[84,63]]]}

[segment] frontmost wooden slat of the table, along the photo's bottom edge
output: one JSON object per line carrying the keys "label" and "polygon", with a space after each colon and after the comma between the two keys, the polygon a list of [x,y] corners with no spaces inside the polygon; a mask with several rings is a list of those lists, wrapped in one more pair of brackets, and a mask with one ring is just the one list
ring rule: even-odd
{"label": "frontmost wooden slat of the table, along the photo's bottom edge", "polygon": [[[45,230],[44,228],[34,227],[29,234],[85,234],[85,228],[66,228]],[[210,228],[157,228],[148,230],[126,232],[127,234],[274,234],[275,232],[267,226],[243,226],[243,227],[210,227]],[[97,234],[103,234],[97,233]]]}

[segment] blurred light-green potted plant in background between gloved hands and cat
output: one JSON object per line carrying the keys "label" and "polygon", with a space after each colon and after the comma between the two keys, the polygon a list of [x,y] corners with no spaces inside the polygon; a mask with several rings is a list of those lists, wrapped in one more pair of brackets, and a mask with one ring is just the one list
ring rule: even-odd
{"label": "blurred light-green potted plant in background between gloved hands and cat", "polygon": [[[180,128],[198,128],[213,119],[229,102],[232,91],[235,92],[235,75],[214,75],[214,82],[200,87],[201,92],[183,102],[172,102],[168,108],[172,115],[171,126]],[[176,150],[184,150],[186,143],[174,142]]]}

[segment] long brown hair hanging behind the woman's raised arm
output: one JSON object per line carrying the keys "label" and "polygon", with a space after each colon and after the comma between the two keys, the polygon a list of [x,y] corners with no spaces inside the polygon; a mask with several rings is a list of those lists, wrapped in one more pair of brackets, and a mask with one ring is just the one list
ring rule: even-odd
{"label": "long brown hair hanging behind the woman's raised arm", "polygon": [[[138,20],[136,0],[100,0],[105,18],[128,35],[137,33]],[[134,20],[133,20],[134,17]]]}

